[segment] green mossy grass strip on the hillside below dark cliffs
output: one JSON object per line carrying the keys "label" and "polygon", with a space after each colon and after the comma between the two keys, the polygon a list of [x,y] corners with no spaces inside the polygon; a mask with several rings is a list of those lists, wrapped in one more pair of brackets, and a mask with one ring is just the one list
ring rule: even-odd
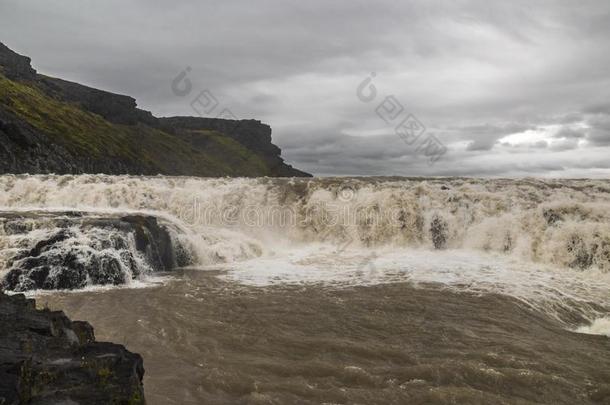
{"label": "green mossy grass strip on the hillside below dark cliffs", "polygon": [[191,139],[144,124],[119,125],[52,98],[36,83],[7,79],[0,72],[0,108],[48,135],[79,157],[136,162],[147,174],[263,176],[263,159],[237,141],[215,131],[192,131]]}

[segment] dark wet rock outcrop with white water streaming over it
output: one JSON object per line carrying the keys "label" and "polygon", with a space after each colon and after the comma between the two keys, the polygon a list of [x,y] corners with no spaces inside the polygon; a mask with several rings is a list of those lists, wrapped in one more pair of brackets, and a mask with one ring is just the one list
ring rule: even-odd
{"label": "dark wet rock outcrop with white water streaming over it", "polygon": [[[190,264],[185,249],[151,216],[91,217],[86,213],[2,213],[6,234],[48,229],[42,239],[17,249],[0,286],[11,291],[76,289],[124,284],[146,271],[166,272]],[[78,229],[78,234],[75,229]],[[130,246],[130,235],[133,242]],[[133,246],[135,244],[135,246]],[[139,259],[139,260],[138,260]]]}

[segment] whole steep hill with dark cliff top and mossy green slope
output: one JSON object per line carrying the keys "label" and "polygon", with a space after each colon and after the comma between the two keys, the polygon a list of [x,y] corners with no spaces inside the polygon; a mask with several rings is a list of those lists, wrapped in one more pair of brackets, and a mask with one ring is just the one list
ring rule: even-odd
{"label": "whole steep hill with dark cliff top and mossy green slope", "polygon": [[0,173],[308,176],[254,120],[156,118],[135,99],[40,75],[0,43]]}

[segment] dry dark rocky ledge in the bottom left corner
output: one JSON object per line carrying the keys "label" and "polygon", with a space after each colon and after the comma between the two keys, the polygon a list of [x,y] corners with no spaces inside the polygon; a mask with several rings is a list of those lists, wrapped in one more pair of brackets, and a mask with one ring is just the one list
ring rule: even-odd
{"label": "dry dark rocky ledge in the bottom left corner", "polygon": [[0,292],[0,405],[144,404],[140,355],[86,322]]}

